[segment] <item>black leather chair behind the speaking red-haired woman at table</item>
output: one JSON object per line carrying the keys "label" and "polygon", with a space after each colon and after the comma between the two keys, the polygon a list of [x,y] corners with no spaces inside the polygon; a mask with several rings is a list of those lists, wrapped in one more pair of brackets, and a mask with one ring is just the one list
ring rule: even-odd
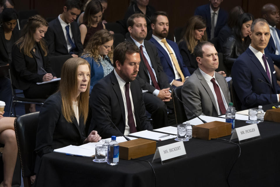
{"label": "black leather chair behind the speaking red-haired woman at table", "polygon": [[34,149],[38,118],[39,112],[29,113],[18,117],[14,124],[24,187],[31,186],[30,176],[35,175],[34,161],[36,154]]}

